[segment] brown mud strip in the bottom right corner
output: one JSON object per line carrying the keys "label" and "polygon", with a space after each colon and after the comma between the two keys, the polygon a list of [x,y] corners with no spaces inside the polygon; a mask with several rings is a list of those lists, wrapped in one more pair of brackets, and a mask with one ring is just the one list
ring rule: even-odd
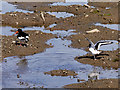
{"label": "brown mud strip in the bottom right corner", "polygon": [[101,79],[65,85],[64,88],[118,88],[118,79]]}

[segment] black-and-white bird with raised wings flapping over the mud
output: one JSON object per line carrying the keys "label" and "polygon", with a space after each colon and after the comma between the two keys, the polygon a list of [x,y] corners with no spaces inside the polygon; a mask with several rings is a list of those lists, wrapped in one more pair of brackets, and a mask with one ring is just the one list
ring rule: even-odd
{"label": "black-and-white bird with raised wings flapping over the mud", "polygon": [[88,38],[86,38],[86,40],[89,41],[89,51],[94,55],[94,59],[96,59],[95,55],[99,55],[100,53],[102,53],[102,51],[99,50],[100,46],[108,45],[108,44],[112,44],[113,43],[113,42],[110,42],[110,41],[98,41],[96,44],[94,44]]}

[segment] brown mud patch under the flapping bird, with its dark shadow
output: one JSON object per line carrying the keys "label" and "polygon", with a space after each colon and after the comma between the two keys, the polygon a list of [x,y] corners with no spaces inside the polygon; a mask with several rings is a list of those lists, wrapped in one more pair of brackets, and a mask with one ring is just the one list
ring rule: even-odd
{"label": "brown mud patch under the flapping bird, with its dark shadow", "polygon": [[83,64],[91,64],[94,66],[102,66],[103,68],[119,68],[119,50],[104,51],[101,55],[96,56],[97,60],[94,60],[93,55],[85,55],[76,57],[75,60]]}

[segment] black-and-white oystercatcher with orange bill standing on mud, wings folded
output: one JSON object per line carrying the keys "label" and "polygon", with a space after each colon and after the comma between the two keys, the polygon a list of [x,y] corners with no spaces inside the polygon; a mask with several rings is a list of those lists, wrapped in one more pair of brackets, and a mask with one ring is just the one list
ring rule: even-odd
{"label": "black-and-white oystercatcher with orange bill standing on mud, wings folded", "polygon": [[[26,42],[26,43],[29,41],[29,35],[28,35],[27,33],[23,32],[22,29],[18,29],[18,30],[14,33],[14,35],[15,35],[15,34],[18,34],[18,35],[17,35],[17,38],[18,38],[20,41]],[[22,44],[20,43],[20,45],[22,45]]]}

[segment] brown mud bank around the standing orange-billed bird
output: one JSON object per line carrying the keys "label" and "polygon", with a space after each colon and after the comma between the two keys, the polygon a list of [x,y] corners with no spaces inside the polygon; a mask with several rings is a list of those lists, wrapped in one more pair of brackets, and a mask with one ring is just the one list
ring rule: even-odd
{"label": "brown mud bank around the standing orange-billed bird", "polygon": [[25,31],[30,36],[27,47],[12,43],[19,41],[16,36],[2,36],[2,58],[10,56],[26,56],[45,51],[46,48],[52,47],[45,42],[53,37],[52,34],[46,34],[41,31]]}

